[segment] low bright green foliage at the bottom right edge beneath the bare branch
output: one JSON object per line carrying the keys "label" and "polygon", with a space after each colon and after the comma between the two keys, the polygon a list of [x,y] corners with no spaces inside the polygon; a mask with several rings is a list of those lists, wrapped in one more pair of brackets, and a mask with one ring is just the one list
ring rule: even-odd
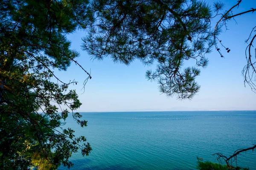
{"label": "low bright green foliage at the bottom right edge beneath the bare branch", "polygon": [[249,170],[249,168],[241,167],[228,167],[227,165],[217,164],[210,161],[203,161],[202,158],[198,159],[198,170]]}

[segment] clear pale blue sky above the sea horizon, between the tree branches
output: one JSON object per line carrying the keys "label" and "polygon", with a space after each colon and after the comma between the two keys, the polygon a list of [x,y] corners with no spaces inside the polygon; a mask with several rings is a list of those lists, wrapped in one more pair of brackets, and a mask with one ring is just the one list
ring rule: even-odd
{"label": "clear pale blue sky above the sea horizon, between the tree branches", "polygon": [[[213,1],[209,1],[210,4]],[[237,0],[226,0],[226,9],[233,6]],[[254,0],[243,0],[235,13],[256,8]],[[85,91],[81,91],[86,74],[72,64],[67,71],[58,73],[64,80],[78,81],[76,89],[83,103],[78,111],[197,111],[197,110],[256,110],[256,94],[250,87],[244,87],[241,71],[246,64],[244,40],[255,25],[254,14],[244,14],[236,17],[236,22],[228,22],[228,29],[220,36],[220,40],[231,49],[225,53],[225,58],[213,50],[208,55],[209,65],[201,69],[197,81],[201,90],[192,100],[177,100],[167,98],[158,91],[157,82],[145,79],[145,71],[150,69],[140,61],[131,65],[113,63],[110,58],[103,61],[92,60],[81,50],[81,37],[84,32],[78,31],[68,38],[72,48],[80,52],[77,61],[91,71],[92,79],[87,82]],[[215,22],[212,22],[215,24]],[[223,50],[224,51],[224,50]],[[82,94],[83,93],[83,94]]]}

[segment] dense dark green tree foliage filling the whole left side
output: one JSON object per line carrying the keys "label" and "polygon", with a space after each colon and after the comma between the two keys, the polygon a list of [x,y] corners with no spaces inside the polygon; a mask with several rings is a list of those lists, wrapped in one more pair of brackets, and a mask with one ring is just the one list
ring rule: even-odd
{"label": "dense dark green tree foliage filling the whole left side", "polygon": [[[67,34],[87,22],[87,0],[0,0],[0,169],[70,167],[84,136],[62,127],[81,106],[74,90],[54,70],[66,70],[78,56]],[[89,75],[90,76],[90,75]],[[61,114],[58,109],[61,106]],[[73,118],[87,125],[79,113]]]}

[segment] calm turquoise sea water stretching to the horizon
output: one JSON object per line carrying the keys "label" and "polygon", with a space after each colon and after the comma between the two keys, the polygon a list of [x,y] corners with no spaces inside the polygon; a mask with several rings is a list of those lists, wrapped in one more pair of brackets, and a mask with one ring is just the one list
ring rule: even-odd
{"label": "calm turquoise sea water stretching to the horizon", "polygon": [[[231,155],[256,144],[256,111],[82,113],[88,126],[68,119],[66,126],[84,135],[93,151],[72,156],[71,170],[194,170],[197,156]],[[256,151],[237,164],[256,170]],[[59,169],[64,170],[65,167]]]}

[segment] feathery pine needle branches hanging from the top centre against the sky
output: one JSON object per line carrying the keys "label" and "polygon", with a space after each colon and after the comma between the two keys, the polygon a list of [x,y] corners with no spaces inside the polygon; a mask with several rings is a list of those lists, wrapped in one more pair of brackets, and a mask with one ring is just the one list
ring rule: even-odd
{"label": "feathery pine needle branches hanging from the top centre against the sky", "polygon": [[[200,74],[199,67],[207,66],[205,54],[214,44],[212,11],[206,3],[93,0],[90,10],[93,20],[82,47],[93,58],[110,56],[126,65],[135,59],[145,65],[157,62],[156,71],[147,71],[146,77],[159,83],[160,92],[190,99],[199,91],[195,78]],[[195,66],[184,68],[189,59]]]}

